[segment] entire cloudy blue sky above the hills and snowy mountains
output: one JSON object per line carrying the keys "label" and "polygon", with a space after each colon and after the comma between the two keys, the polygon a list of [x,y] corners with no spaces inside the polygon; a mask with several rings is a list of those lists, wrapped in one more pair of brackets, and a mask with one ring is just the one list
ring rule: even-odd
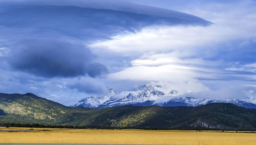
{"label": "entire cloudy blue sky above the hills and snowy mountains", "polygon": [[153,81],[256,103],[256,1],[2,0],[0,17],[1,93],[73,105]]}

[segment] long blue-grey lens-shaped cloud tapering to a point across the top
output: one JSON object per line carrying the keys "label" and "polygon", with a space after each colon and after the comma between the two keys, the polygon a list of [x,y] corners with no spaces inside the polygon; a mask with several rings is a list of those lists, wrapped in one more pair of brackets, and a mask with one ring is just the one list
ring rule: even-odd
{"label": "long blue-grey lens-shaped cloud tapering to a point across the top", "polygon": [[[90,2],[93,3],[94,1]],[[100,2],[97,3],[100,4]],[[122,9],[116,10],[118,6],[111,3],[98,6],[99,8],[50,4],[28,5],[27,3],[7,4],[0,3],[0,32],[8,28],[8,35],[24,36],[30,32],[30,36],[33,37],[49,37],[50,35],[51,37],[69,36],[78,39],[98,40],[110,39],[120,32],[134,32],[150,25],[209,24],[208,21],[196,16],[160,8],[154,8],[154,14],[152,14],[152,7],[138,5],[136,5],[138,8],[134,8],[133,12],[133,5],[126,6],[127,8],[122,5],[124,7],[122,9],[127,10],[122,11]],[[116,8],[111,9],[110,6]],[[138,13],[136,13],[137,11]],[[140,11],[143,13],[139,13]],[[10,29],[15,29],[15,31],[10,32]]]}

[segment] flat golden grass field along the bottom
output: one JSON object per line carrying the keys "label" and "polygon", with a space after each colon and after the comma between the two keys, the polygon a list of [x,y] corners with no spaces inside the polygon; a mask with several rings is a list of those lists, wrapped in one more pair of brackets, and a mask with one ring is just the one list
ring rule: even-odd
{"label": "flat golden grass field along the bottom", "polygon": [[[0,128],[5,130],[7,128]],[[31,128],[8,128],[20,130]],[[42,128],[33,128],[42,129]],[[46,129],[46,128],[44,128]],[[0,143],[256,144],[256,132],[72,129],[0,132]]]}

